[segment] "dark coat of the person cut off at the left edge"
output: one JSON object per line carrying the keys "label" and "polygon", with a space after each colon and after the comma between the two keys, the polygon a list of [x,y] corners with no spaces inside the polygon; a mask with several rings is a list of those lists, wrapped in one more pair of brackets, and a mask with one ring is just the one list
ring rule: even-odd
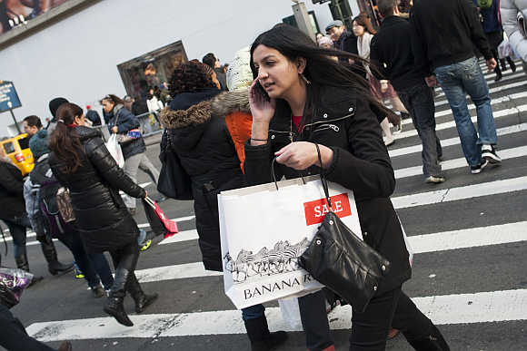
{"label": "dark coat of the person cut off at the left edge", "polygon": [[0,161],[0,219],[25,215],[24,180],[13,164]]}

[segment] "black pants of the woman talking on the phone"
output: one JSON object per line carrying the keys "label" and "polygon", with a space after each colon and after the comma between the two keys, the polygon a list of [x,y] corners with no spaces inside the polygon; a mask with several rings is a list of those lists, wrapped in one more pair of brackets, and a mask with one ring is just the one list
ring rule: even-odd
{"label": "black pants of the woman talking on the phone", "polygon": [[433,324],[401,288],[396,288],[373,297],[363,313],[353,312],[350,350],[383,351],[390,327],[401,330],[411,341],[429,336]]}

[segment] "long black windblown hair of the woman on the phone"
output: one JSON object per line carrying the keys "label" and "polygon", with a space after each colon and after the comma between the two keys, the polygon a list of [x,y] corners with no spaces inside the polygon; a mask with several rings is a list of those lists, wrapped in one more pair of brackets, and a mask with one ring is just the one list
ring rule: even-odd
{"label": "long black windblown hair of the woman on the phone", "polygon": [[[313,97],[318,94],[313,90],[318,87],[327,85],[339,88],[351,88],[355,93],[361,96],[364,100],[370,103],[373,111],[376,113],[389,113],[383,103],[377,101],[372,94],[370,83],[359,73],[353,72],[356,68],[345,63],[338,63],[331,59],[331,56],[338,56],[345,59],[352,59],[354,65],[370,64],[367,60],[344,51],[325,49],[318,47],[313,40],[303,34],[299,29],[291,25],[275,26],[273,29],[258,35],[254,43],[251,45],[251,70],[253,77],[258,76],[258,70],[254,66],[253,55],[254,50],[260,44],[277,50],[283,54],[290,61],[294,61],[300,57],[306,60],[303,75],[311,82],[308,84],[308,101],[306,102],[306,112],[310,112],[310,105],[313,104]],[[361,70],[361,68],[359,70]],[[371,66],[372,70],[375,70]],[[266,95],[266,93],[264,92]],[[311,118],[304,116],[304,120]]]}

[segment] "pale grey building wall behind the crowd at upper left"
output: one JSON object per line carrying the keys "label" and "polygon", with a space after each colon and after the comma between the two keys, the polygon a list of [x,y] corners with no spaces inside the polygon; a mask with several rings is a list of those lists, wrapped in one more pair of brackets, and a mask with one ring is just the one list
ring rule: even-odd
{"label": "pale grey building wall behind the crowd at upper left", "polygon": [[[57,8],[69,2],[83,4],[0,43],[0,80],[15,84],[22,102],[13,111],[18,121],[30,114],[45,121],[51,117],[48,102],[57,96],[100,109],[105,94],[130,91],[126,63],[147,62],[149,53],[167,46],[182,49],[180,59],[201,61],[212,52],[229,63],[258,34],[293,15],[293,2],[286,0],[68,0]],[[333,20],[327,5],[306,6],[321,29]],[[15,29],[0,35],[0,42]],[[10,113],[0,113],[0,136],[14,134]]]}

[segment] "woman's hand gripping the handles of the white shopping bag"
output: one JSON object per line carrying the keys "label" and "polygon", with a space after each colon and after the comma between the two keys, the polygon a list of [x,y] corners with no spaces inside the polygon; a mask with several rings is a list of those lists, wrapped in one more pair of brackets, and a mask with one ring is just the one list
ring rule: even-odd
{"label": "woman's hand gripping the handles of the white shopping bag", "polygon": [[[327,169],[333,161],[333,150],[320,144],[319,148],[323,163],[322,167]],[[318,161],[318,152],[313,142],[295,141],[276,151],[274,155],[277,156],[276,161],[278,163],[282,163],[284,166],[297,171],[308,169],[313,165],[321,167]]]}

